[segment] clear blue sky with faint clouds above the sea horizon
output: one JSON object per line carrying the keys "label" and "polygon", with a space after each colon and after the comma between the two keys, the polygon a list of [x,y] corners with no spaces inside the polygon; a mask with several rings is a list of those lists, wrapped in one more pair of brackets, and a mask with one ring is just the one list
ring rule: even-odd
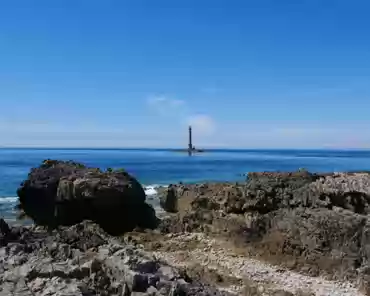
{"label": "clear blue sky with faint clouds above the sea horizon", "polygon": [[370,3],[0,2],[0,146],[370,147]]}

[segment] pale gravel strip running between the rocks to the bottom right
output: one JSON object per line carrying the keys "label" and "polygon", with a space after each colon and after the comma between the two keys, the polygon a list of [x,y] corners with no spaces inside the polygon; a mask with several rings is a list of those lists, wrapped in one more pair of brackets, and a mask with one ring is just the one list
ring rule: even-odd
{"label": "pale gravel strip running between the rocks to the bottom right", "polygon": [[167,234],[153,247],[157,258],[202,281],[243,296],[364,296],[353,284],[327,280],[238,254],[231,243],[204,233]]}

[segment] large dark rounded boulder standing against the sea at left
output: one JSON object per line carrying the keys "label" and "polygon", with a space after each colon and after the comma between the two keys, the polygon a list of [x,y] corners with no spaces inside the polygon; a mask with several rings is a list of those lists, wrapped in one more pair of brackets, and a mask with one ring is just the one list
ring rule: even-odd
{"label": "large dark rounded boulder standing against the sea at left", "polygon": [[103,172],[71,161],[46,160],[17,190],[19,208],[38,225],[73,225],[85,219],[110,233],[154,228],[154,209],[140,183],[125,171]]}

